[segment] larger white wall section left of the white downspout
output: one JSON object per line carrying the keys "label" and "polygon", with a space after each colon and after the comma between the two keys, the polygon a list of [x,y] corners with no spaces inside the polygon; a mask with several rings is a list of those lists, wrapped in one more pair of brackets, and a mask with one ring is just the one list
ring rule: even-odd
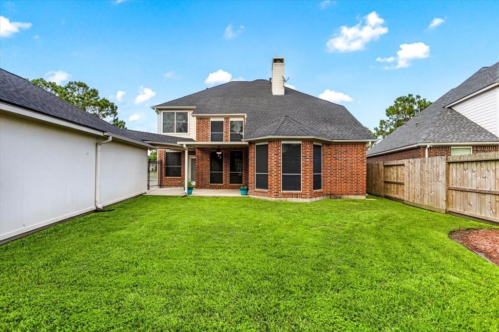
{"label": "larger white wall section left of the white downspout", "polygon": [[95,208],[97,141],[0,114],[0,239]]}

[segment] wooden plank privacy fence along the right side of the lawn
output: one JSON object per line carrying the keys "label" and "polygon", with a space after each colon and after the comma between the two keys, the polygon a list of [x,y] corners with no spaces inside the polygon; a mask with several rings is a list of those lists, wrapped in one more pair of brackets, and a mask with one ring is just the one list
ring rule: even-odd
{"label": "wooden plank privacy fence along the right side of the lawn", "polygon": [[499,223],[499,152],[368,163],[367,192]]}

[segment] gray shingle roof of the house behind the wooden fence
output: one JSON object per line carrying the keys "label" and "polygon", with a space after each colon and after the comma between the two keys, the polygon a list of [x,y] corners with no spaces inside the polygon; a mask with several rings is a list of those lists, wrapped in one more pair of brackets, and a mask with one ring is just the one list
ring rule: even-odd
{"label": "gray shingle roof of the house behind the wooden fence", "polygon": [[499,138],[446,105],[499,82],[499,62],[484,67],[367,151],[367,156],[414,144],[499,142]]}

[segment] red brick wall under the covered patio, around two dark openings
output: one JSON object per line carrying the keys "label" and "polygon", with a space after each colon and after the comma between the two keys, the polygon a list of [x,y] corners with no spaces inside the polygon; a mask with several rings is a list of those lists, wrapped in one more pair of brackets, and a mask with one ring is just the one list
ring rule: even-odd
{"label": "red brick wall under the covered patio, around two dark openings", "polygon": [[[230,184],[230,152],[231,150],[243,151],[243,184]],[[196,187],[211,189],[239,189],[241,185],[248,186],[248,148],[222,148],[224,158],[224,183],[210,184],[210,152],[217,148],[196,149]]]}

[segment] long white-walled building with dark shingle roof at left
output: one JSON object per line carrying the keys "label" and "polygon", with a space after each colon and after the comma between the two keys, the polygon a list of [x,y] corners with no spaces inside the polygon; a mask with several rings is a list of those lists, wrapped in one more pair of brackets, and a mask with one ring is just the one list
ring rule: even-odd
{"label": "long white-walled building with dark shingle roof at left", "polygon": [[154,135],[0,69],[0,242],[146,192],[147,150],[157,146],[144,141]]}

